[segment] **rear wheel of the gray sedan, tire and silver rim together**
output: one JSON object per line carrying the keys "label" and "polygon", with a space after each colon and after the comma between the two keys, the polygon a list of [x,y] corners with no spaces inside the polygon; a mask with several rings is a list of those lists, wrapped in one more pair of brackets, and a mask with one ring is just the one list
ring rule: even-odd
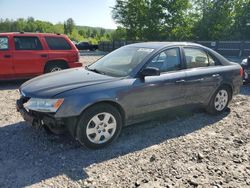
{"label": "rear wheel of the gray sedan, tire and silver rim together", "polygon": [[223,113],[232,98],[232,92],[229,87],[222,86],[216,90],[213,97],[211,98],[208,106],[207,112],[212,115],[218,115]]}

